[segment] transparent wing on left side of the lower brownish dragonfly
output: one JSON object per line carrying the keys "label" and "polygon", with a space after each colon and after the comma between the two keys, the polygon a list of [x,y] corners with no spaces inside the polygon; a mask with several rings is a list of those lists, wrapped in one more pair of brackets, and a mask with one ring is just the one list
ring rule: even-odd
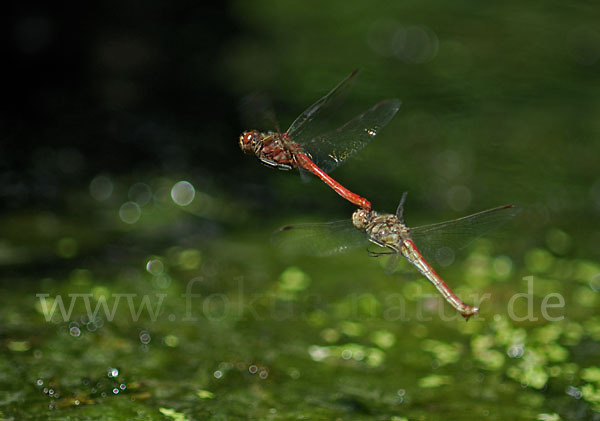
{"label": "transparent wing on left side of the lower brownish dragonfly", "polygon": [[368,244],[367,236],[352,221],[287,225],[271,235],[271,242],[284,251],[312,256],[331,256]]}

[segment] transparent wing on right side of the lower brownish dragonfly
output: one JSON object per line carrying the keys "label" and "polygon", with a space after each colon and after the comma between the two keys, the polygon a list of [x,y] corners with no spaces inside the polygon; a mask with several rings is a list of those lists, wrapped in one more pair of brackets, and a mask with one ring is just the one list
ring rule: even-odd
{"label": "transparent wing on right side of the lower brownish dragonfly", "polygon": [[410,229],[410,236],[425,259],[446,266],[456,251],[493,231],[521,211],[517,205],[488,209],[463,218]]}

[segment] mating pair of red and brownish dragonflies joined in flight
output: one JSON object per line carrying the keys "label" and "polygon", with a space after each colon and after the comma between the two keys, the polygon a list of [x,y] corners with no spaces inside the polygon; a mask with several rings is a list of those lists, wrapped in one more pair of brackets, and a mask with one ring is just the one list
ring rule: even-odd
{"label": "mating pair of red and brownish dragonflies joined in flight", "polygon": [[400,108],[398,99],[381,101],[338,128],[323,131],[320,123],[343,99],[357,75],[358,71],[354,71],[331,92],[308,107],[286,132],[262,133],[251,130],[240,136],[240,147],[245,153],[256,155],[270,167],[310,172],[359,207],[351,220],[285,226],[274,233],[273,240],[282,247],[318,256],[374,243],[388,252],[371,255],[392,254],[388,264],[390,269],[399,255],[404,256],[468,320],[479,312],[479,308],[463,303],[433,270],[428,260],[431,261],[440,250],[444,250],[449,241],[456,246],[461,241],[467,243],[498,228],[515,216],[520,208],[515,205],[499,206],[453,221],[409,228],[404,223],[406,193],[402,195],[395,214],[379,213],[371,209],[371,203],[366,198],[331,178],[328,172],[369,144]]}

